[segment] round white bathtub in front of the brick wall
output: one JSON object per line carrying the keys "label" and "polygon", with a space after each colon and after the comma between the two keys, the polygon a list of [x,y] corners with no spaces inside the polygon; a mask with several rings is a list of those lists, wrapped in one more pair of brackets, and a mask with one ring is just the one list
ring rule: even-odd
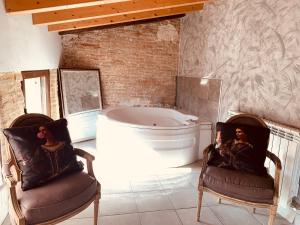
{"label": "round white bathtub in front of the brick wall", "polygon": [[97,121],[96,164],[122,170],[178,167],[198,159],[198,117],[173,109],[115,107]]}

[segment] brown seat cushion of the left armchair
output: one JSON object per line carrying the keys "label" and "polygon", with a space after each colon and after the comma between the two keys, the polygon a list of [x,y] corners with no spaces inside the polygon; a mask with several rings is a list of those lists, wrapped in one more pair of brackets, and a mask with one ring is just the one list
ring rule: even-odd
{"label": "brown seat cushion of the left armchair", "polygon": [[55,179],[27,191],[17,188],[17,197],[26,224],[49,221],[78,209],[97,192],[97,181],[84,172]]}

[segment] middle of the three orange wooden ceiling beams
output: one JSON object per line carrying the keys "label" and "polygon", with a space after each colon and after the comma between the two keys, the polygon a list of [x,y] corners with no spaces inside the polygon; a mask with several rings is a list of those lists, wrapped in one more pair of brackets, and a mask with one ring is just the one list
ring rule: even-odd
{"label": "middle of the three orange wooden ceiling beams", "polygon": [[85,19],[104,18],[108,16],[145,12],[149,10],[167,9],[175,6],[188,6],[205,3],[208,0],[130,0],[128,2],[112,3],[99,6],[82,7],[76,9],[58,10],[32,15],[33,24],[56,24],[75,22]]}

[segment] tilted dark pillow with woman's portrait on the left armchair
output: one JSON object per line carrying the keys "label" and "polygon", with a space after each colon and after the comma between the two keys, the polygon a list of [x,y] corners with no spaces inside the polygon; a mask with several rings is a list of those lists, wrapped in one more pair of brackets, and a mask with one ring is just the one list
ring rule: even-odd
{"label": "tilted dark pillow with woman's portrait on the left armchair", "polygon": [[[59,150],[45,150],[45,139],[39,139],[39,127],[46,126],[55,139],[61,143]],[[35,126],[4,129],[10,146],[15,154],[21,173],[22,189],[40,186],[62,174],[80,171],[83,165],[77,162],[71,145],[67,121],[57,121]]]}

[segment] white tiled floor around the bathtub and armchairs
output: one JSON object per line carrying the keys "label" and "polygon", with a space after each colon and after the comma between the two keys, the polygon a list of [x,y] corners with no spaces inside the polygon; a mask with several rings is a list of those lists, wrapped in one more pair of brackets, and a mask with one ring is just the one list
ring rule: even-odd
{"label": "white tiled floor around the bathtub and armchairs", "polygon": [[[89,152],[94,142],[76,144]],[[196,222],[199,163],[157,171],[144,177],[101,181],[99,225],[267,225],[268,212],[229,203],[204,194],[201,222]],[[61,224],[92,225],[93,205]],[[7,223],[9,224],[9,223]],[[274,225],[288,225],[276,218]]]}

